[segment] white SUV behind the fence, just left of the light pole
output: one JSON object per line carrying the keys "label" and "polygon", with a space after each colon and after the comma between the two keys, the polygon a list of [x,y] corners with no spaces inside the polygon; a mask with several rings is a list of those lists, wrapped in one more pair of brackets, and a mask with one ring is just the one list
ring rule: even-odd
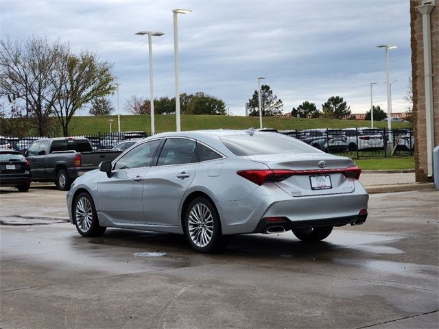
{"label": "white SUV behind the fence, just left of the light pole", "polygon": [[381,130],[375,128],[346,128],[349,151],[364,151],[372,149],[383,149],[383,135]]}

